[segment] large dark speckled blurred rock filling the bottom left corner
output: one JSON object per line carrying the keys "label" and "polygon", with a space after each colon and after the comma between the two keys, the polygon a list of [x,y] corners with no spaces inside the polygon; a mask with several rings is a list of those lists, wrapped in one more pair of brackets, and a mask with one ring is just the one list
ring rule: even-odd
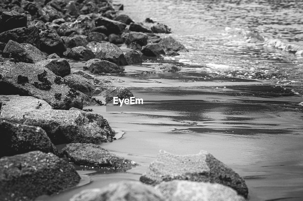
{"label": "large dark speckled blurred rock filling the bottom left corner", "polygon": [[0,199],[34,200],[75,186],[80,176],[72,164],[40,151],[0,158]]}

